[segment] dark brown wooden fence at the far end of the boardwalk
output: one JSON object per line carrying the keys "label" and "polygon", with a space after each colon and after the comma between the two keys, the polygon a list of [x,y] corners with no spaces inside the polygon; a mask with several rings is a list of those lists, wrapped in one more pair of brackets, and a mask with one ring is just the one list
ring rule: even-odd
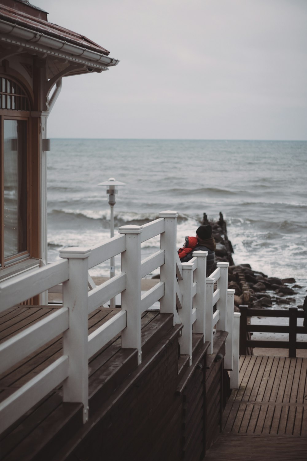
{"label": "dark brown wooden fence at the far end of the boardwalk", "polygon": [[[297,307],[289,309],[249,309],[248,306],[240,306],[240,355],[248,355],[248,348],[280,348],[289,349],[289,357],[296,357],[296,349],[307,349],[307,342],[297,342],[297,333],[306,333],[307,327],[297,326],[297,319],[304,318],[304,311]],[[286,317],[289,325],[248,325],[249,317]],[[266,341],[248,339],[248,333],[288,333],[289,341]]]}

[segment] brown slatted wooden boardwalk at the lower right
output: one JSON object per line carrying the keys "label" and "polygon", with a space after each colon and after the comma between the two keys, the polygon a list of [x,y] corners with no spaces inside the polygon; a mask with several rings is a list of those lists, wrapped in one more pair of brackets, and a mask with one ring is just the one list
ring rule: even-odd
{"label": "brown slatted wooden boardwalk at the lower right", "polygon": [[205,460],[307,459],[307,358],[241,356],[223,431]]}

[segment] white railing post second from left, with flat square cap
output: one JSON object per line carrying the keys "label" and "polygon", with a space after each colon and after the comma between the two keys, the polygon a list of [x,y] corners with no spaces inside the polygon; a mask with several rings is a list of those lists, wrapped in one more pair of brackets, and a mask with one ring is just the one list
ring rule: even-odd
{"label": "white railing post second from left, with flat square cap", "polygon": [[126,251],[122,253],[122,272],[126,272],[126,290],[122,292],[122,310],[127,311],[127,327],[122,331],[122,347],[138,349],[138,364],[142,362],[141,344],[141,232],[143,226],[127,225],[118,229],[126,234]]}

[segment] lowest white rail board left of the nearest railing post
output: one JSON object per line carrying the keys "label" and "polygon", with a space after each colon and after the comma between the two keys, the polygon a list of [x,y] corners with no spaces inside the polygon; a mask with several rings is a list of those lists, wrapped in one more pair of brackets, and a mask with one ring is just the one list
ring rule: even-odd
{"label": "lowest white rail board left of the nearest railing post", "polygon": [[62,356],[0,403],[0,432],[11,426],[68,376],[68,357]]}

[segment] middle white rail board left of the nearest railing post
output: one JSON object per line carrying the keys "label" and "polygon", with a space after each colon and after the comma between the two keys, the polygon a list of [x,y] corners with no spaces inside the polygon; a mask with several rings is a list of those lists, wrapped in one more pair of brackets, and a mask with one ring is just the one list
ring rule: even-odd
{"label": "middle white rail board left of the nearest railing post", "polygon": [[0,344],[0,373],[63,333],[68,326],[68,309],[63,307]]}

